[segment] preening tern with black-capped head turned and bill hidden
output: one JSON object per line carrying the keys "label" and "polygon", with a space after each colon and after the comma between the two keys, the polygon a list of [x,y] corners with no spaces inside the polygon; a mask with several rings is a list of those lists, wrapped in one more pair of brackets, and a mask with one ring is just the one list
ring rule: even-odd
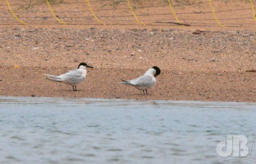
{"label": "preening tern with black-capped head turned and bill hidden", "polygon": [[152,87],[156,83],[156,76],[161,73],[161,70],[154,66],[150,68],[145,74],[138,77],[137,79],[132,80],[122,80],[123,82],[118,82],[118,84],[131,85],[138,90],[142,90],[145,94],[144,90],[146,90],[146,94],[148,94],[148,89]]}

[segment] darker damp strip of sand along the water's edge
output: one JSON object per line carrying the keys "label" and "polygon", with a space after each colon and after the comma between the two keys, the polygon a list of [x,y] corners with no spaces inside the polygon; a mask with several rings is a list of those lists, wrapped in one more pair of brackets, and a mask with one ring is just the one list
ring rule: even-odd
{"label": "darker damp strip of sand along the water's edge", "polygon": [[[52,68],[51,68],[52,69]],[[89,70],[86,80],[73,91],[70,85],[55,83],[45,79],[47,68],[1,67],[2,96],[36,97],[86,97],[157,100],[200,100],[200,101],[248,101],[256,102],[254,87],[255,74],[243,72],[175,72],[162,70],[157,84],[148,94],[133,87],[116,84],[120,78],[139,76],[145,70],[109,70],[108,68]],[[48,71],[63,73],[68,69]],[[1,72],[2,72],[1,71]]]}

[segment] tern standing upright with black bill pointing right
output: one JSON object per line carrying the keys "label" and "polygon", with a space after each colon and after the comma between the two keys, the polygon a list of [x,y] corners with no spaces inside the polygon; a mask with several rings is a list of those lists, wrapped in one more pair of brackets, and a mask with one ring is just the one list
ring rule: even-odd
{"label": "tern standing upright with black bill pointing right", "polygon": [[71,70],[65,74],[62,74],[59,76],[54,76],[54,75],[49,75],[49,74],[44,74],[44,75],[50,77],[50,78],[47,77],[46,78],[47,80],[63,82],[63,83],[72,85],[73,90],[77,91],[76,85],[85,80],[86,67],[93,68],[93,67],[87,65],[86,63],[80,63],[78,65],[77,69]]}

